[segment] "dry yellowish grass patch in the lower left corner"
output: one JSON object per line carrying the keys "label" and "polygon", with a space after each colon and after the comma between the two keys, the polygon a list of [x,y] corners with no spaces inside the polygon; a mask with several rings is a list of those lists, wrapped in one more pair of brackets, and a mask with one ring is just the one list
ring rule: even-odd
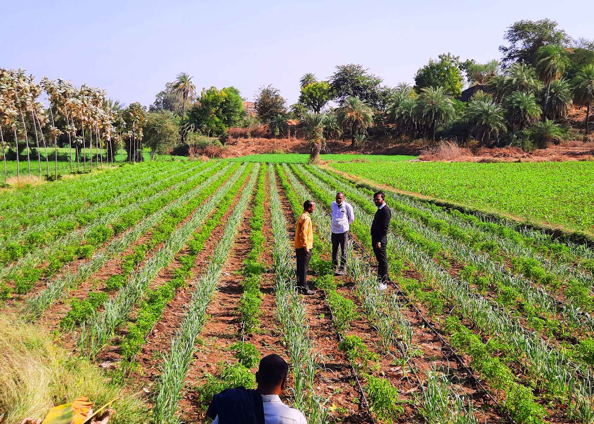
{"label": "dry yellowish grass patch in the lower left corner", "polygon": [[55,336],[12,314],[0,314],[0,416],[3,423],[24,417],[43,417],[53,406],[86,396],[102,405],[115,397],[110,423],[149,421],[140,395],[109,382],[103,371],[72,356],[56,344]]}

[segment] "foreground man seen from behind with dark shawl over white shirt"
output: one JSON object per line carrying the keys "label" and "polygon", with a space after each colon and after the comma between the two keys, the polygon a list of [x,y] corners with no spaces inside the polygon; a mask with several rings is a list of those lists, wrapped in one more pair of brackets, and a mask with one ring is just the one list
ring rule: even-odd
{"label": "foreground man seen from behind with dark shawl over white shirt", "polygon": [[307,424],[304,414],[280,400],[289,365],[279,355],[260,360],[256,390],[228,388],[214,395],[206,415],[213,424]]}

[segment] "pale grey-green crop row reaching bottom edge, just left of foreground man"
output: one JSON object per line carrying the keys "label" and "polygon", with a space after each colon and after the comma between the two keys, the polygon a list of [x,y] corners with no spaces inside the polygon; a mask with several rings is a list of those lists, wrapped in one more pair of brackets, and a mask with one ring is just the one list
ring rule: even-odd
{"label": "pale grey-green crop row reaching bottom edge, just left of foreground man", "polygon": [[252,169],[241,198],[226,223],[222,238],[214,248],[212,260],[197,281],[184,321],[175,336],[172,337],[171,347],[161,366],[156,385],[153,407],[153,420],[156,424],[175,421],[175,412],[183,395],[185,379],[194,354],[194,344],[206,322],[208,303],[219,282],[223,264],[228,258],[230,248],[239,230],[239,224],[251,198],[259,168],[260,166],[257,165]]}

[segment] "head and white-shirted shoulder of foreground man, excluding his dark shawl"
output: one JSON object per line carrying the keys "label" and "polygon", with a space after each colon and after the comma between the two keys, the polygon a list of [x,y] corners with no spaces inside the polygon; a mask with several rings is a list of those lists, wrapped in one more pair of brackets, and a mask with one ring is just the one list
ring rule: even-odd
{"label": "head and white-shirted shoulder of foreground man, excluding his dark shawl", "polygon": [[[280,400],[287,384],[288,372],[289,365],[279,355],[268,355],[260,360],[256,382],[264,406],[265,424],[307,424],[304,414]],[[219,424],[218,414],[213,424]]]}

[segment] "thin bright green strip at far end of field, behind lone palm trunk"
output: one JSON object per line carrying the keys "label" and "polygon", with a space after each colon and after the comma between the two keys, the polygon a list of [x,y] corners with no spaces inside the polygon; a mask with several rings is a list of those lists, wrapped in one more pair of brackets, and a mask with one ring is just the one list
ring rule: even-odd
{"label": "thin bright green strip at far end of field, behind lone palm trunk", "polygon": [[[321,160],[330,162],[401,162],[403,160],[416,159],[416,156],[403,154],[321,154]],[[248,156],[232,157],[228,160],[237,162],[268,162],[268,163],[307,163],[309,154],[288,153],[288,154],[249,154]]]}

